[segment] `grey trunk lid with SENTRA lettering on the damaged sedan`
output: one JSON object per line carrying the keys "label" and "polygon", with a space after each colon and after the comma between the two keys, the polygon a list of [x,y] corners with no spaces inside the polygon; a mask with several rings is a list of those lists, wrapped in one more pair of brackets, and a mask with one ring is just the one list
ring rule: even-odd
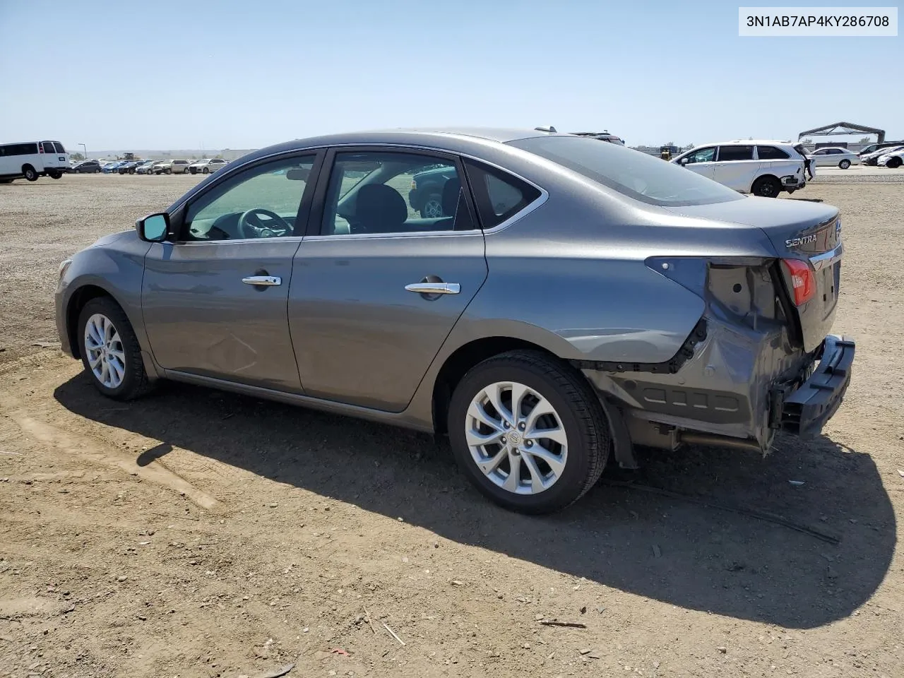
{"label": "grey trunk lid with SENTRA lettering on the damaged sedan", "polygon": [[782,269],[807,352],[815,351],[829,334],[841,278],[841,220],[838,209],[818,202],[749,197],[707,205],[665,208],[670,212],[713,221],[756,226],[766,233],[779,259],[804,259],[814,269],[815,295],[794,306],[791,280]]}

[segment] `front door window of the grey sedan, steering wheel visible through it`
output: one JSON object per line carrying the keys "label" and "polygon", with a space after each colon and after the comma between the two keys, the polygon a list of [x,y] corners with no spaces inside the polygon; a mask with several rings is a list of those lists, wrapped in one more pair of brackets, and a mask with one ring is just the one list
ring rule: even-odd
{"label": "front door window of the grey sedan, steering wheel visible through it", "polygon": [[298,208],[314,159],[305,155],[264,163],[203,193],[188,206],[184,240],[301,235],[296,231]]}

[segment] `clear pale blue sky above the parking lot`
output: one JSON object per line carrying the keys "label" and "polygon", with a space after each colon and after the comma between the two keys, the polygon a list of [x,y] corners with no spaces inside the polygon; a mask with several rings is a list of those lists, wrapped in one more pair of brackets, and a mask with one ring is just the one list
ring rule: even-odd
{"label": "clear pale blue sky above the parking lot", "polygon": [[0,142],[251,148],[460,124],[658,146],[838,120],[904,137],[904,38],[741,38],[739,4],[755,5],[0,0]]}

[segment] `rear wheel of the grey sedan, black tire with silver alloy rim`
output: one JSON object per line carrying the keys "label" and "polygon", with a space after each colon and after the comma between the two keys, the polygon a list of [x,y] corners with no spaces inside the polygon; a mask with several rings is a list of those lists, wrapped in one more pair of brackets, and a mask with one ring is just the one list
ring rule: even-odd
{"label": "rear wheel of the grey sedan, black tire with silver alloy rim", "polygon": [[[501,401],[503,409],[511,408],[513,385],[526,387],[528,395],[523,397],[522,419],[524,408],[537,406],[541,402],[537,400],[538,397],[545,399],[554,411],[539,419],[540,428],[563,429],[565,445],[561,446],[560,442],[551,438],[535,438],[534,442],[527,436],[530,428],[525,433],[520,433],[524,430],[523,422],[518,427],[518,438],[521,440],[517,450],[505,448],[501,443],[471,447],[466,429],[470,428],[475,435],[485,435],[486,431],[494,430],[480,423],[486,419],[482,417],[478,420],[473,416],[472,412],[478,407],[476,403],[487,399],[485,405],[480,405],[490,408],[483,410],[483,416],[498,420],[500,423],[497,430],[500,433],[505,430],[502,428],[504,417],[511,415],[511,411],[508,411],[501,416],[492,407],[492,401],[488,400],[487,391],[493,391],[494,384],[504,384],[503,395],[497,400]],[[505,388],[509,388],[508,396]],[[506,400],[509,402],[507,406]],[[530,411],[526,410],[528,420]],[[512,426],[507,430],[509,434],[505,437],[506,444],[511,445],[508,436],[515,431]],[[452,453],[468,479],[496,504],[520,513],[551,513],[578,501],[602,474],[611,439],[606,416],[589,383],[569,366],[534,351],[501,353],[467,372],[459,381],[449,403],[448,431]],[[528,447],[532,447],[534,452],[529,452]],[[543,452],[550,460],[556,459],[557,467],[547,464],[541,457],[534,457],[538,452]],[[562,456],[564,460],[559,466],[558,460]],[[476,458],[482,458],[485,462],[490,462],[491,459],[499,461],[494,469],[485,472],[478,466]],[[517,478],[520,482],[517,490],[512,491],[504,485],[513,479],[515,463],[518,465]],[[537,480],[537,474],[543,476],[537,485],[538,489],[523,485],[525,474],[530,481]],[[541,485],[547,483],[545,488],[541,488]]]}

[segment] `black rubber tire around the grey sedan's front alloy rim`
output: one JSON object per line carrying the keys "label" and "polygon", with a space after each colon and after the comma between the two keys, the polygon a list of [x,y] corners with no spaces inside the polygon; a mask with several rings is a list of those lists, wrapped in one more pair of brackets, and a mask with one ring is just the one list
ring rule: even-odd
{"label": "black rubber tire around the grey sedan's front alloy rim", "polygon": [[[104,352],[110,356],[107,372],[104,372],[100,366],[103,364],[102,362],[98,364],[98,369],[101,372],[101,376],[104,373],[109,375],[107,383],[102,381],[91,368],[89,362],[90,349],[85,345],[86,326],[90,321],[92,325],[98,327],[99,318],[106,318],[113,329],[112,332],[107,333],[107,339],[118,336],[118,341],[113,341],[109,345],[114,347],[113,350],[118,351],[121,356],[117,359],[114,355]],[[128,322],[125,312],[112,298],[95,297],[85,304],[79,314],[78,333],[81,364],[98,391],[114,400],[133,400],[150,391],[151,383],[147,379],[145,365],[141,359],[141,348],[138,345],[135,331]],[[97,355],[98,353],[94,352],[94,354]],[[118,368],[121,369],[121,375],[118,374]],[[117,376],[119,376],[118,381],[115,379]]]}

